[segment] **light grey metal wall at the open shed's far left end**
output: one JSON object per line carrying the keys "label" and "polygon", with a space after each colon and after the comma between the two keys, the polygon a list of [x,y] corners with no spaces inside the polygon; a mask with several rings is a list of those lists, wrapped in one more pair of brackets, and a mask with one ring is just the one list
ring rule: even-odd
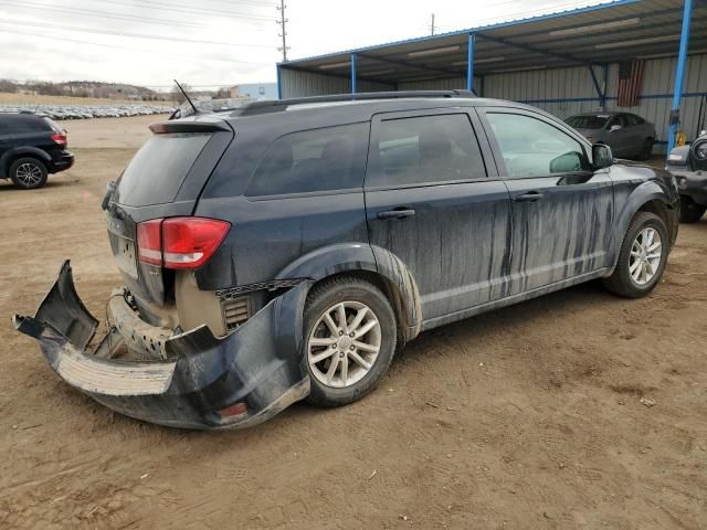
{"label": "light grey metal wall at the open shed's far left end", "polygon": [[[281,75],[283,97],[326,96],[330,94],[348,94],[351,92],[351,81],[346,77],[335,77],[314,72],[300,72],[283,68]],[[359,92],[394,91],[395,85],[387,83],[371,83],[358,80]]]}

